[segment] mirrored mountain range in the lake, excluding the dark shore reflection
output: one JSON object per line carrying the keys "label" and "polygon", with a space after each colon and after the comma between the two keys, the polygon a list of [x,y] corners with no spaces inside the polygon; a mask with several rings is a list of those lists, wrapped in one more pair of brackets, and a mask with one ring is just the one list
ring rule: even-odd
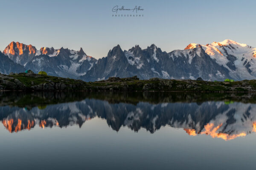
{"label": "mirrored mountain range in the lake, excluding the dark shore reflection", "polygon": [[[120,112],[121,111],[121,112]],[[127,126],[134,131],[145,128],[154,133],[162,126],[183,128],[192,136],[206,134],[224,140],[256,132],[256,105],[234,102],[160,103],[139,102],[137,105],[111,104],[104,100],[84,99],[56,105],[38,106],[31,110],[0,107],[3,125],[10,132],[40,127],[79,125],[94,117],[106,119],[113,130]]]}

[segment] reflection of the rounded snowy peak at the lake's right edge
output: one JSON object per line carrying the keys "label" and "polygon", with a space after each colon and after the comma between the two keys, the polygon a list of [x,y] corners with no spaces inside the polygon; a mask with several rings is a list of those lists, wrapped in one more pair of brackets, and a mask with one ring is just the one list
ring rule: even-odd
{"label": "reflection of the rounded snowy peak at the lake's right edge", "polygon": [[[246,136],[251,132],[256,132],[256,105],[233,103],[230,105],[224,102],[203,103],[197,109],[202,110],[205,106],[211,106],[214,111],[220,111],[210,121],[202,122],[193,119],[189,114],[185,122],[171,121],[171,126],[182,127],[191,136],[207,134],[213,138],[224,140],[235,139],[239,136]],[[208,112],[208,110],[206,110]],[[208,115],[209,116],[209,115]]]}

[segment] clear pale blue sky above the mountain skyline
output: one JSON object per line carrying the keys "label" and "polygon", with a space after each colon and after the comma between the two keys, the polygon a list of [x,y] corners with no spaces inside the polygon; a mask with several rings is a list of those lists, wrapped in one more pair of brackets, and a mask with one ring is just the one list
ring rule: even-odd
{"label": "clear pale blue sky above the mountain skyline", "polygon": [[[255,0],[4,0],[0,10],[0,50],[11,41],[54,48],[84,49],[105,57],[154,43],[163,51],[190,42],[225,39],[256,47]],[[112,17],[113,6],[144,8],[143,17]],[[119,11],[119,14],[133,14]]]}

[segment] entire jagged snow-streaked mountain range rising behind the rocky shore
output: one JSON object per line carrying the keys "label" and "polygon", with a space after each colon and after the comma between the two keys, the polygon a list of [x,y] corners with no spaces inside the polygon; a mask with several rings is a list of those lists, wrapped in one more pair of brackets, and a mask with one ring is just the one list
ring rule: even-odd
{"label": "entire jagged snow-streaked mountain range rising behind the rocky shore", "polygon": [[117,45],[107,57],[99,60],[87,56],[82,49],[43,47],[37,50],[19,42],[11,42],[3,53],[34,72],[44,70],[52,76],[84,81],[135,75],[140,79],[256,79],[256,48],[233,40],[207,45],[191,43],[184,50],[169,53],[154,44],[146,49],[135,45],[128,51]]}

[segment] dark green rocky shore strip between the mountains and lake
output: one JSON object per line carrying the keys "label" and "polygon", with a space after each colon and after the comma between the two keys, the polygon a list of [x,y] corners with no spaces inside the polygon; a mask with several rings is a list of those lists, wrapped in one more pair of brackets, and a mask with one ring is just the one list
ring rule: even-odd
{"label": "dark green rocky shore strip between the mountains and lake", "polygon": [[52,77],[34,73],[0,74],[0,91],[204,91],[256,92],[256,80],[207,82],[151,78],[139,80],[110,77],[98,82]]}

